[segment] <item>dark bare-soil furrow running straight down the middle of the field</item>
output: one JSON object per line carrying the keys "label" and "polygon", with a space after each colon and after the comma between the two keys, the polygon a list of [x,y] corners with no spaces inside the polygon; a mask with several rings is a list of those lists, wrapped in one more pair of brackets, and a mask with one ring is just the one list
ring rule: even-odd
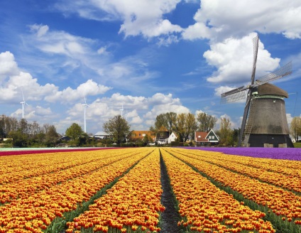
{"label": "dark bare-soil furrow running straight down the middle of the field", "polygon": [[165,210],[160,214],[160,228],[161,233],[180,233],[182,232],[180,227],[177,226],[177,222],[181,220],[179,213],[179,203],[173,193],[173,187],[170,185],[170,178],[168,176],[168,170],[166,169],[165,162],[160,152],[160,180],[163,189],[161,196],[161,204],[164,205]]}

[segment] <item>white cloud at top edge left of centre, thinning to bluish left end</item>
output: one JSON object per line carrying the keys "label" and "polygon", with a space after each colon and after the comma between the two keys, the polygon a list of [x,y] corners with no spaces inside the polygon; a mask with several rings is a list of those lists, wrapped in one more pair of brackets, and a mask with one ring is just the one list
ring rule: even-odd
{"label": "white cloud at top edge left of centre, thinning to bluish left end", "polygon": [[[182,28],[164,18],[175,10],[180,0],[61,1],[56,7],[64,13],[77,13],[99,21],[121,20],[119,33],[128,36],[156,36],[180,33]],[[98,11],[96,11],[98,9]]]}

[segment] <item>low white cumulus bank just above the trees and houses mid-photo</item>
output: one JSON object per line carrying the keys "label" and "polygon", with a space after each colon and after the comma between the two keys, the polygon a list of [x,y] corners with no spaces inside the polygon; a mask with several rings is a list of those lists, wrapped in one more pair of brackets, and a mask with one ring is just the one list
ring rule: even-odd
{"label": "low white cumulus bank just above the trees and houses mid-photo", "polygon": [[[156,93],[151,97],[135,97],[114,93],[111,97],[97,98],[87,104],[87,127],[94,131],[102,131],[102,125],[108,119],[121,114],[121,106],[124,107],[123,116],[131,124],[131,129],[144,129],[153,125],[155,117],[165,112],[188,113],[190,110],[183,106],[180,99],[173,98],[172,94]],[[82,119],[83,126],[84,109],[81,103],[77,103],[67,110],[68,120]],[[65,119],[64,121],[66,121]]]}

